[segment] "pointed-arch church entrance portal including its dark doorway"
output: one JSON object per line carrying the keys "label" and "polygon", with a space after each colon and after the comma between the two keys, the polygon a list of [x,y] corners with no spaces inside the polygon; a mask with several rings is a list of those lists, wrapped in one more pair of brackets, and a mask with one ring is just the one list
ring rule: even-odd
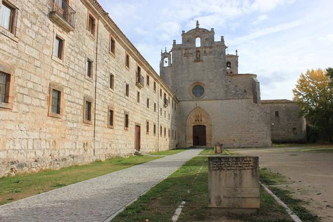
{"label": "pointed-arch church entrance portal including its dark doorway", "polygon": [[208,114],[196,107],[186,121],[186,147],[211,146],[211,122]]}

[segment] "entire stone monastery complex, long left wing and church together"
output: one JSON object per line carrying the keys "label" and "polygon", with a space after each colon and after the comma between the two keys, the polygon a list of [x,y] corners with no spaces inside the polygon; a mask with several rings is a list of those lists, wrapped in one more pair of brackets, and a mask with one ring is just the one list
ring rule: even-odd
{"label": "entire stone monastery complex, long left wing and church together", "polygon": [[[238,74],[237,52],[226,54],[213,29],[184,31],[181,44],[162,52],[159,76],[96,0],[0,0],[0,7],[0,177],[304,135],[304,119],[284,116],[297,108],[264,105],[256,75]],[[281,121],[272,118],[282,106]]]}

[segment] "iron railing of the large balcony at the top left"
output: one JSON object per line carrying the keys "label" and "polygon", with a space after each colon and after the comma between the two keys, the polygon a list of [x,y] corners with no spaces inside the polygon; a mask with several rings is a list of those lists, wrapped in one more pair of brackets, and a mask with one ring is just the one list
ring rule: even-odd
{"label": "iron railing of the large balcony at the top left", "polygon": [[76,12],[68,5],[66,0],[53,0],[52,11],[61,16],[68,24],[75,28]]}

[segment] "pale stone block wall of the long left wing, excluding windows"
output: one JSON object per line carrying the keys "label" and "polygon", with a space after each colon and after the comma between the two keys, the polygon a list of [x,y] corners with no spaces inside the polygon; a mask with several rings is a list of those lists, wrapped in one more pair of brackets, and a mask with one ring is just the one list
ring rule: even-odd
{"label": "pale stone block wall of the long left wing, excluding windows", "polygon": [[[14,33],[0,28],[0,71],[11,74],[11,107],[0,107],[0,176],[132,155],[135,125],[141,126],[142,151],[176,147],[168,130],[177,128],[173,105],[177,98],[97,2],[70,1],[76,23],[69,32],[50,20],[51,0],[9,2],[17,10]],[[94,35],[87,30],[88,13],[95,18]],[[55,35],[64,39],[62,59],[53,52]],[[109,52],[110,35],[116,40],[115,54]],[[129,69],[125,68],[126,52]],[[85,75],[87,58],[93,62],[92,78]],[[144,77],[141,89],[136,86],[137,65]],[[114,89],[109,88],[109,74],[115,77]],[[59,118],[48,115],[50,87],[62,90]],[[165,107],[160,89],[170,98]],[[83,123],[84,98],[92,101],[91,124]],[[114,109],[113,128],[107,126],[108,107]],[[127,130],[125,112],[129,114]],[[167,131],[165,137],[159,134],[160,126]]]}

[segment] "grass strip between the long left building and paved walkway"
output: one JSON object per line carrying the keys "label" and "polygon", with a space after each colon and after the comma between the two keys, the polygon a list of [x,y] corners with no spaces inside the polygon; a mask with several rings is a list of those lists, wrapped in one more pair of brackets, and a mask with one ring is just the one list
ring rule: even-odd
{"label": "grass strip between the long left building and paved walkway", "polygon": [[0,178],[0,205],[33,196],[56,188],[119,171],[160,157],[130,156],[87,165],[76,165],[61,170],[45,170],[36,174],[21,174]]}

